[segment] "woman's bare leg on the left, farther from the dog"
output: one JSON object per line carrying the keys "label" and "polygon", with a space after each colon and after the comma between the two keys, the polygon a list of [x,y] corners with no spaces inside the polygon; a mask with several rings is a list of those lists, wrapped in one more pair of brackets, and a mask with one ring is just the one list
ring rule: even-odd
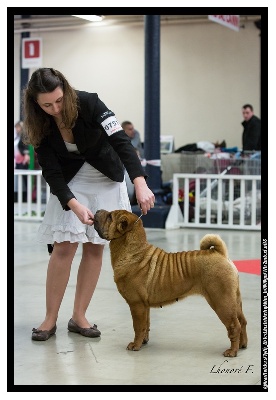
{"label": "woman's bare leg on the left, farther from the dog", "polygon": [[50,330],[55,325],[59,308],[70,277],[78,243],[55,243],[46,280],[46,317],[38,329]]}

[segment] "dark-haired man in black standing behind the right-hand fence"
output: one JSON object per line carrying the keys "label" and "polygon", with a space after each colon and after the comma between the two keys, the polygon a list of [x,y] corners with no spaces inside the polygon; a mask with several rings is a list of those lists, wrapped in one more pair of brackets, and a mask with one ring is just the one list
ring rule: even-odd
{"label": "dark-haired man in black standing behind the right-hand fence", "polygon": [[251,104],[242,106],[242,115],[244,121],[242,133],[242,151],[260,151],[261,150],[261,120],[254,115],[254,109]]}

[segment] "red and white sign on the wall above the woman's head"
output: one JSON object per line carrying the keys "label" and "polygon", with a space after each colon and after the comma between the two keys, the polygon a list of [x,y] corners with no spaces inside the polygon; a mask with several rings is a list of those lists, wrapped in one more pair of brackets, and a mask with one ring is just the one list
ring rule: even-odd
{"label": "red and white sign on the wall above the woman's head", "polygon": [[22,68],[42,67],[42,39],[22,38]]}

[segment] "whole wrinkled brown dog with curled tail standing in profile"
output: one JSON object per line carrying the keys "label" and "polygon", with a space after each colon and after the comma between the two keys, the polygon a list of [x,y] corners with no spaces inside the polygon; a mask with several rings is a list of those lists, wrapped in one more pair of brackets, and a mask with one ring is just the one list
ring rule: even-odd
{"label": "whole wrinkled brown dog with curled tail standing in profile", "polygon": [[141,219],[131,212],[99,210],[94,227],[110,241],[111,264],[118,291],[130,307],[135,338],[128,350],[149,340],[150,307],[160,307],[192,294],[205,297],[225,325],[236,357],[247,347],[238,271],[218,235],[205,235],[200,250],[167,253],[148,243]]}

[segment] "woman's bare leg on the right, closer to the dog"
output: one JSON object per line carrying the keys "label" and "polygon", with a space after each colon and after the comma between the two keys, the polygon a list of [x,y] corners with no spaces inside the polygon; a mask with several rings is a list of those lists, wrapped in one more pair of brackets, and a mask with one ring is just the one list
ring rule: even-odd
{"label": "woman's bare leg on the right, closer to the dog", "polygon": [[[93,243],[83,244],[72,315],[73,321],[81,328],[89,328],[91,326],[85,317],[85,313],[100,276],[103,250],[104,245]],[[94,321],[92,322],[94,324]]]}

